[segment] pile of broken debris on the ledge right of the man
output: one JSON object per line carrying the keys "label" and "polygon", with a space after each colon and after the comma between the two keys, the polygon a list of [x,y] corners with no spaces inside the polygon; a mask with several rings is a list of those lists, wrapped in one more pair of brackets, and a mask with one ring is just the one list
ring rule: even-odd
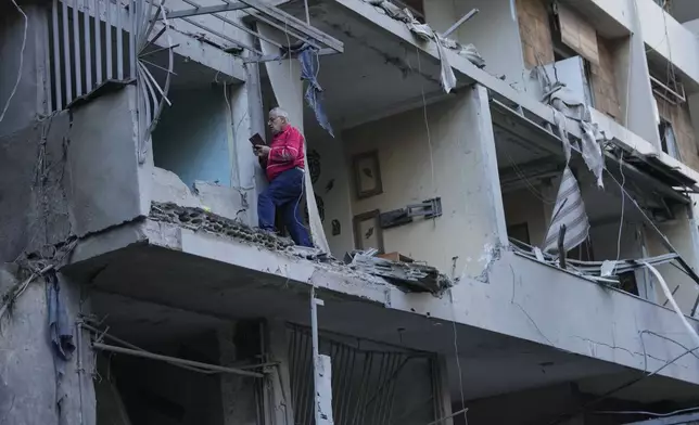
{"label": "pile of broken debris on the ledge right of the man", "polygon": [[[377,249],[354,250],[345,254],[345,263],[356,271],[381,276],[406,292],[440,294],[453,285],[449,278],[434,267],[412,260],[394,260],[392,255],[381,258],[377,254]],[[401,257],[399,254],[397,256]]]}

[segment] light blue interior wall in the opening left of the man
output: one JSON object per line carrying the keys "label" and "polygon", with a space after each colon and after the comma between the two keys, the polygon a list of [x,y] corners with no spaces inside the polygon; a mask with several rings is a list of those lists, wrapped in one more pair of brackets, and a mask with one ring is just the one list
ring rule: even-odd
{"label": "light blue interior wall in the opening left of the man", "polygon": [[231,184],[227,132],[228,106],[221,86],[175,88],[153,132],[156,167],[175,172],[188,185],[195,180]]}

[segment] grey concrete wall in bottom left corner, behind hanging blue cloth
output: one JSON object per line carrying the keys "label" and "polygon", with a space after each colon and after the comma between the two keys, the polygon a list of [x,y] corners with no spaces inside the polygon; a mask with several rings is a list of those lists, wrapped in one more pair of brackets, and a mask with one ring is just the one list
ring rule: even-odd
{"label": "grey concrete wall in bottom left corner, behind hanging blue cloth", "polygon": [[[16,269],[0,268],[0,293],[23,282]],[[72,323],[79,311],[89,312],[80,300],[79,286],[60,276],[61,292]],[[0,423],[13,425],[94,425],[94,390],[91,353],[82,345],[68,361],[56,360],[49,336],[47,287],[34,281],[0,321]],[[74,329],[74,343],[77,335]],[[87,340],[87,339],[85,339]],[[64,368],[62,377],[56,368]]]}

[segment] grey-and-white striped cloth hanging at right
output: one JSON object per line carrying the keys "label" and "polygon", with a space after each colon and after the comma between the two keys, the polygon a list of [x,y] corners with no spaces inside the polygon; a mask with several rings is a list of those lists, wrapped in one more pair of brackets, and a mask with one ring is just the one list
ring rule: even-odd
{"label": "grey-and-white striped cloth hanging at right", "polygon": [[570,167],[563,170],[561,185],[558,188],[551,223],[544,242],[545,252],[558,252],[558,234],[565,224],[563,248],[569,252],[585,242],[589,231],[589,220],[585,212],[585,203],[577,185],[577,180]]}

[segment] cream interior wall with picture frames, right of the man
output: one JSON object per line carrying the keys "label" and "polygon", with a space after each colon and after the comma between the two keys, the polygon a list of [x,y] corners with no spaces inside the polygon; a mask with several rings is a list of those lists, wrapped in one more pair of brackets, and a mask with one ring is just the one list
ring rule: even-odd
{"label": "cream interior wall with picture frames, right of the man", "polygon": [[[507,243],[493,127],[484,91],[476,87],[455,100],[429,106],[429,136],[421,108],[343,133],[355,216],[442,198],[442,217],[416,218],[411,223],[384,230],[385,252],[399,252],[443,271],[467,267],[478,270],[486,266],[492,249]],[[377,151],[379,158],[383,191],[360,199],[354,180],[363,171],[354,169],[353,155],[372,151]]]}

